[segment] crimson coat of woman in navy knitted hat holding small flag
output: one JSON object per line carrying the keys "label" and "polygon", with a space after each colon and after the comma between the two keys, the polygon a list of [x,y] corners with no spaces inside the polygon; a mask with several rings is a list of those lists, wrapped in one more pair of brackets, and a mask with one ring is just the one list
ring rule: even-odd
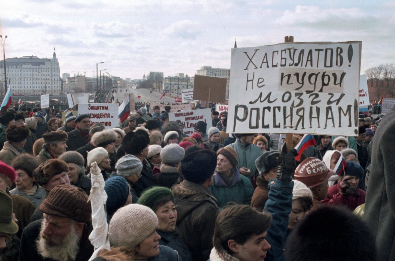
{"label": "crimson coat of woman in navy knitted hat holding small flag", "polygon": [[330,186],[328,188],[328,195],[326,199],[322,200],[321,202],[327,206],[331,205],[344,205],[351,211],[356,209],[359,205],[365,203],[365,196],[366,192],[357,188],[357,191],[354,195],[341,195],[340,194],[340,182]]}

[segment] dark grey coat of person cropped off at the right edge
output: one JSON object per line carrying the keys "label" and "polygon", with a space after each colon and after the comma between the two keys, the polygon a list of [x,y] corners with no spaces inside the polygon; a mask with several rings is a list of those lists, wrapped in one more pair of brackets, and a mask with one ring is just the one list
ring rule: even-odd
{"label": "dark grey coat of person cropped off at the right edge", "polygon": [[395,260],[394,147],[395,107],[382,118],[374,134],[363,216],[376,239],[378,261]]}

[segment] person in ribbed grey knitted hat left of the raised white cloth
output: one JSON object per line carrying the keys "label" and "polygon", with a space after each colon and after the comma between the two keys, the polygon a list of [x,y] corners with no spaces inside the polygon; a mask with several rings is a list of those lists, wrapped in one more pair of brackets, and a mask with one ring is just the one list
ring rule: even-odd
{"label": "person in ribbed grey knitted hat left of the raised white cloth", "polygon": [[92,183],[90,178],[85,175],[85,160],[77,151],[67,151],[60,155],[60,160],[66,162],[69,167],[67,175],[70,179],[70,184],[81,188],[88,196]]}

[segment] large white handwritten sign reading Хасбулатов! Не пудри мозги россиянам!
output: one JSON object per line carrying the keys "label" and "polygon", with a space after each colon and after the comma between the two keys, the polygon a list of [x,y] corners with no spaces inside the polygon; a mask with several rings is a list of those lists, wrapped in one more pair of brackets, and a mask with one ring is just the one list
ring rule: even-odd
{"label": "large white handwritten sign reading \u0425\u0430\u0441\u0431\u0443\u043b\u0430\u0442\u043e\u0432! \u041d\u0435 \u043f\u0443\u0434\u0440\u0438 \u043c\u043e\u0437\u0433\u0438 \u0440\u043e\u0441\u0441\u0438\u044f\u043d\u0430\u043c!", "polygon": [[228,133],[358,134],[360,41],[231,52]]}

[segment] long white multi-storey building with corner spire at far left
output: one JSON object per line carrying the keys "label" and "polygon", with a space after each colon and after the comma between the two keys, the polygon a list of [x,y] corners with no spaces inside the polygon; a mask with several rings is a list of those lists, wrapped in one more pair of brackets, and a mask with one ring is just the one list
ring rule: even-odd
{"label": "long white multi-storey building with corner spire at far left", "polygon": [[[55,48],[52,59],[22,56],[6,59],[7,85],[12,95],[59,95],[60,71]],[[0,62],[0,83],[4,84],[4,62]]]}

